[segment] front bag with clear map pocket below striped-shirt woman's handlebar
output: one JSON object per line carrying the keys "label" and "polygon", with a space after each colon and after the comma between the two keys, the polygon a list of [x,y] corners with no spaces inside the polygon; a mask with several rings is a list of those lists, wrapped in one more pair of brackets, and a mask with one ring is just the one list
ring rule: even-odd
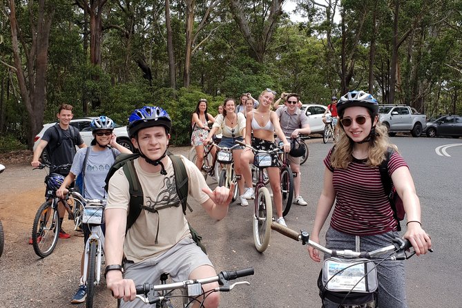
{"label": "front bag with clear map pocket below striped-shirt woman's handlebar", "polygon": [[318,277],[319,296],[342,305],[365,305],[376,298],[378,282],[374,262],[367,259],[328,258]]}

